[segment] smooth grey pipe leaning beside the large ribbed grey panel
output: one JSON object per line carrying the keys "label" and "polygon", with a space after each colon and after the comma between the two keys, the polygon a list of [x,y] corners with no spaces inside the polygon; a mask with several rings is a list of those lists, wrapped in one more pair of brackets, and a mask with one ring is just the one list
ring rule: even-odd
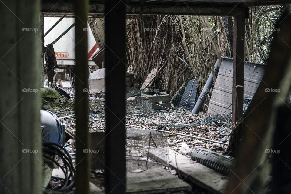
{"label": "smooth grey pipe leaning beside the large ribbed grey panel", "polygon": [[[216,63],[214,65],[214,71],[215,71],[215,73],[218,71],[218,60],[216,60]],[[205,86],[203,87],[203,90],[200,93],[198,100],[196,101],[196,104],[195,104],[191,114],[198,114],[199,113],[206,96],[210,93],[212,84],[213,84],[213,75],[211,72],[206,83],[205,83]]]}

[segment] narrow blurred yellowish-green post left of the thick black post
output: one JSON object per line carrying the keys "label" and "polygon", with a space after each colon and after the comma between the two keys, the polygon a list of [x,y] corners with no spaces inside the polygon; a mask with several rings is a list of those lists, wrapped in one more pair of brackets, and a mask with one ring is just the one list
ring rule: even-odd
{"label": "narrow blurred yellowish-green post left of the thick black post", "polygon": [[[89,9],[88,0],[74,1],[75,12],[75,115],[77,136],[76,157],[76,194],[89,194],[89,153],[88,149],[88,54],[87,54],[87,14]],[[85,89],[85,90],[84,90]]]}

